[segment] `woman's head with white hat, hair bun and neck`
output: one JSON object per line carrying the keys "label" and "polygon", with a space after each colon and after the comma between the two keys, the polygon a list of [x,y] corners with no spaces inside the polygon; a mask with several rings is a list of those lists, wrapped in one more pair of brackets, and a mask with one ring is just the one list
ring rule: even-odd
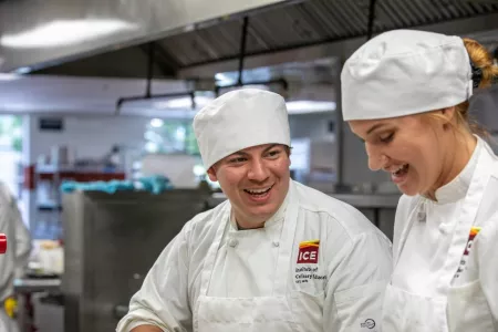
{"label": "woman's head with white hat, hair bun and neck", "polygon": [[[491,84],[498,76],[498,66],[494,65],[486,49],[470,39],[457,38],[452,42],[459,48],[445,45],[445,58],[430,58],[437,38],[427,33],[427,40],[412,50],[419,52],[418,58],[427,58],[417,61],[434,59],[422,74],[409,62],[416,55],[409,53],[408,44],[396,43],[401,34],[408,33],[386,33],[370,43],[369,50],[365,45],[349,60],[342,75],[343,83],[356,89],[354,93],[359,93],[359,100],[351,98],[347,94],[351,91],[344,92],[344,115],[353,133],[365,143],[372,170],[388,172],[404,194],[423,194],[436,199],[436,190],[455,178],[469,160],[477,142],[473,134],[486,135],[469,118],[468,98],[473,94],[471,89]],[[381,50],[381,43],[376,43],[386,35],[395,40],[388,44],[390,49]],[[377,59],[372,64],[375,70],[367,72],[359,65],[361,56],[366,54],[395,58]],[[448,59],[461,64],[448,64]],[[395,66],[395,62],[404,68],[404,72]],[[395,74],[400,81],[392,80]],[[364,79],[361,83],[356,81],[360,77]],[[450,80],[452,86],[448,87],[445,80]],[[390,90],[398,93],[384,95]],[[381,100],[390,100],[390,103]]]}

